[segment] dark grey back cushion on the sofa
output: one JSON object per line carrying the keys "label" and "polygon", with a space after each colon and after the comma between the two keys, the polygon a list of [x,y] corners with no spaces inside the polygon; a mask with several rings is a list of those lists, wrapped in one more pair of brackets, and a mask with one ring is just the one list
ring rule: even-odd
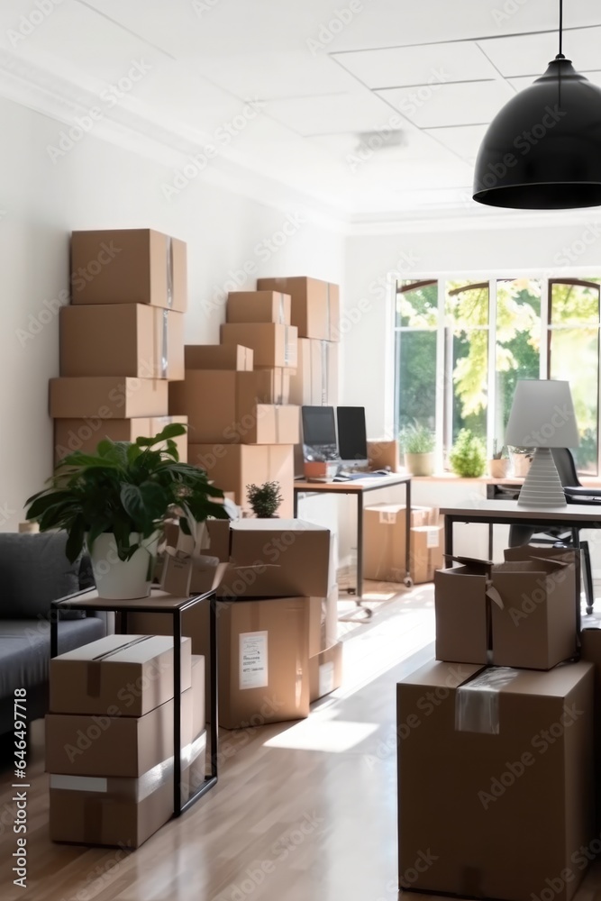
{"label": "dark grey back cushion on the sofa", "polygon": [[0,618],[47,616],[50,601],[79,590],[66,544],[67,532],[0,532]]}

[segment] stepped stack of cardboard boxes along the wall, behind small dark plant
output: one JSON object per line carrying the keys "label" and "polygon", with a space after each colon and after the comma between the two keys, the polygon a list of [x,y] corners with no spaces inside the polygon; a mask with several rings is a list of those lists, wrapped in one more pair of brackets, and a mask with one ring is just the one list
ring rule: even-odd
{"label": "stepped stack of cardboard boxes along the wall, behind small dark plant", "polygon": [[290,298],[274,291],[233,292],[222,345],[187,346],[183,383],[169,389],[169,411],[189,419],[188,460],[232,492],[250,513],[246,487],[277,481],[279,514],[293,512],[299,409],[288,403],[296,368]]}

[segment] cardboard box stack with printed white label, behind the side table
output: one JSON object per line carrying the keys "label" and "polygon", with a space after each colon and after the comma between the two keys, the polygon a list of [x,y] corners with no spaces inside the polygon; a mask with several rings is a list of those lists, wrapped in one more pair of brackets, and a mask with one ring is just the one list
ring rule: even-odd
{"label": "cardboard box stack with printed white label, behind the side table", "polygon": [[[238,729],[307,716],[312,701],[341,684],[329,530],[283,519],[214,520],[207,527],[210,548],[191,561],[191,587],[207,588],[205,562],[225,564],[217,589],[219,724]],[[192,650],[203,655],[206,607],[185,611],[182,622]],[[128,626],[166,634],[170,619],[132,613]]]}

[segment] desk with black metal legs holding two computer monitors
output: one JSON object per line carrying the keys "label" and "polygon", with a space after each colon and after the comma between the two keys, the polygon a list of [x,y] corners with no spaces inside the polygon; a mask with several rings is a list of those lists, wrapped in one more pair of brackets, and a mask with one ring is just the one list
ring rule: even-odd
{"label": "desk with black metal legs holding two computer monitors", "polygon": [[[393,480],[389,480],[392,479]],[[405,585],[407,587],[411,587],[413,585],[413,580],[411,578],[411,564],[410,564],[410,556],[411,556],[411,475],[401,475],[400,473],[390,473],[390,477],[386,478],[386,484],[382,484],[378,481],[378,476],[369,477],[366,475],[366,481],[360,482],[360,485],[357,485],[355,482],[355,488],[353,489],[353,480],[349,482],[316,482],[315,489],[312,491],[310,488],[300,486],[294,487],[294,515],[295,519],[298,515],[298,496],[305,494],[331,494],[331,495],[355,495],[357,497],[357,595],[358,597],[355,600],[355,603],[358,606],[361,606],[361,600],[363,596],[363,494],[369,491],[377,491],[378,489],[381,491],[384,488],[393,488],[397,485],[405,485]],[[373,484],[372,484],[373,481]],[[319,487],[317,487],[319,486]],[[360,487],[360,491],[358,488]],[[372,611],[367,607],[362,607],[361,609],[365,610],[368,614],[368,617],[371,615]]]}

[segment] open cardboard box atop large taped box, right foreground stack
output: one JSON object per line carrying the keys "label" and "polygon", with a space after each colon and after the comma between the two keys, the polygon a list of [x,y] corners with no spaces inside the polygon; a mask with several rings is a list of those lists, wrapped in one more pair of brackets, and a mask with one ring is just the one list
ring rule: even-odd
{"label": "open cardboard box atop large taped box, right foreground stack", "polygon": [[400,886],[569,901],[599,847],[578,557],[460,562],[436,573],[437,661],[397,686]]}

